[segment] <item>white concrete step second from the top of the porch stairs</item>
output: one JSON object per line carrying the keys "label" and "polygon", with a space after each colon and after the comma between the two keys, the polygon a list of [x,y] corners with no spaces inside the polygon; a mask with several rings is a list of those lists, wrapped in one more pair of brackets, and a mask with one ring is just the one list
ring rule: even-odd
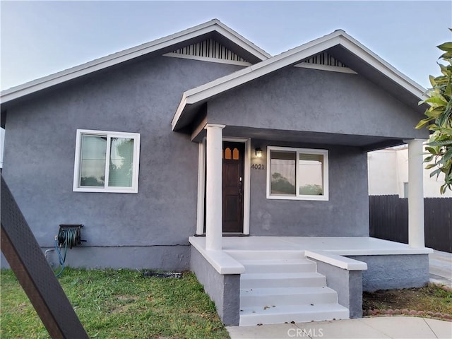
{"label": "white concrete step second from the top of the porch stairs", "polygon": [[302,258],[241,260],[246,273],[316,272],[316,263]]}

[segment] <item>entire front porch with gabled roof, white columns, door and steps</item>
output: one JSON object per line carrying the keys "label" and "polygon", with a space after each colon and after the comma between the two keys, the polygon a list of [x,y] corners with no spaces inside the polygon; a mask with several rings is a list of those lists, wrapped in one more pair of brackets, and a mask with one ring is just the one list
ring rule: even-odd
{"label": "entire front porch with gabled roof, white columns, door and steps", "polygon": [[[352,73],[299,67],[319,52]],[[423,93],[336,31],[183,94],[172,130],[199,144],[205,235],[190,266],[223,323],[360,317],[362,290],[428,282]],[[403,143],[409,245],[368,237],[367,152]]]}

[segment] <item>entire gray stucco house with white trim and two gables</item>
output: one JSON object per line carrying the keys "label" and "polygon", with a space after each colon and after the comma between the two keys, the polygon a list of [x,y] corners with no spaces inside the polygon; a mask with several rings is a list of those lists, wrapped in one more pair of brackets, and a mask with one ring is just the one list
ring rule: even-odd
{"label": "entire gray stucco house with white trim and two gables", "polygon": [[[429,279],[423,93],[343,30],[272,57],[211,20],[2,92],[2,175],[43,251],[85,225],[70,266],[191,269],[228,325],[359,317]],[[369,237],[367,152],[403,143],[408,245]]]}

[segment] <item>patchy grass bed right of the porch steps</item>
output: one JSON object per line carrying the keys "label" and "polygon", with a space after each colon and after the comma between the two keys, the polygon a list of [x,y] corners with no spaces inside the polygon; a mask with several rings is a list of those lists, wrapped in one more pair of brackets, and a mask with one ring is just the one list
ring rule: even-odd
{"label": "patchy grass bed right of the porch steps", "polygon": [[452,315],[452,290],[430,283],[420,288],[364,292],[362,309],[405,309]]}

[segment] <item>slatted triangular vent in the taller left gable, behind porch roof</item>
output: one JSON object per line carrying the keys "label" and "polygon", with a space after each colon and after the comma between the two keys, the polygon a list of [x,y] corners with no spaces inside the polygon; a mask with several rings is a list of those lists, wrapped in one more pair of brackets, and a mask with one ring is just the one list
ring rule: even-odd
{"label": "slatted triangular vent in the taller left gable, behind porch roof", "polygon": [[248,61],[213,39],[203,40],[164,55],[166,57],[213,61],[222,64],[251,65]]}

